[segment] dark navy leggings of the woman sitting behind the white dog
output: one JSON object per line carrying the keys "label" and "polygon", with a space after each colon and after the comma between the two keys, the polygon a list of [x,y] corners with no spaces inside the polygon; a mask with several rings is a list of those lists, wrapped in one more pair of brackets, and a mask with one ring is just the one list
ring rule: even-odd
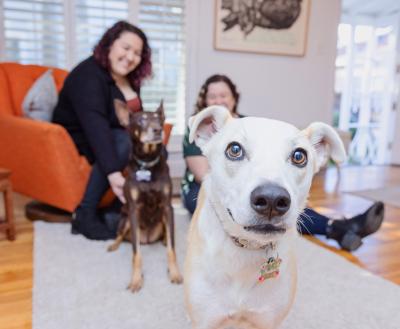
{"label": "dark navy leggings of the woman sitting behind the white dog", "polygon": [[[190,188],[186,193],[184,190],[182,190],[183,205],[191,214],[193,214],[194,210],[196,209],[199,190],[200,184],[196,182],[190,184]],[[328,221],[328,217],[323,216],[310,208],[305,208],[303,213],[300,215],[301,224],[297,225],[297,228],[301,234],[325,235]]]}

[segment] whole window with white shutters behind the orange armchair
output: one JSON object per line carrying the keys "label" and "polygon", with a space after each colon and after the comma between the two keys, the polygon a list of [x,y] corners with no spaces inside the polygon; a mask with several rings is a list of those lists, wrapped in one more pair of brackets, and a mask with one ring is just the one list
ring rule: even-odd
{"label": "whole window with white shutters behind the orange armchair", "polygon": [[[129,14],[131,13],[131,14]],[[132,13],[136,13],[137,17]],[[106,28],[124,19],[146,33],[153,78],[146,110],[164,100],[174,134],[185,123],[185,0],[0,0],[0,59],[71,69],[92,53]]]}

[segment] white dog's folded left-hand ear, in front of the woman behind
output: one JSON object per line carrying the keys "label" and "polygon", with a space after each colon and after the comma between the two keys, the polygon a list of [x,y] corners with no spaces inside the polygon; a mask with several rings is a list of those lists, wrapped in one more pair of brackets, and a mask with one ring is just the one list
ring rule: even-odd
{"label": "white dog's folded left-hand ear, in front of the woman behind", "polygon": [[189,142],[200,148],[218,132],[232,116],[224,106],[209,106],[189,119]]}

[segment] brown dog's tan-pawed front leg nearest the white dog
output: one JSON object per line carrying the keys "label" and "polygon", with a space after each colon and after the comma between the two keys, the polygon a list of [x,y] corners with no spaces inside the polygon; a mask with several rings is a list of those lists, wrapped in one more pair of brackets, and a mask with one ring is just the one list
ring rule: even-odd
{"label": "brown dog's tan-pawed front leg nearest the white dog", "polygon": [[165,207],[165,232],[167,235],[168,273],[172,283],[182,283],[175,254],[174,214],[171,205]]}

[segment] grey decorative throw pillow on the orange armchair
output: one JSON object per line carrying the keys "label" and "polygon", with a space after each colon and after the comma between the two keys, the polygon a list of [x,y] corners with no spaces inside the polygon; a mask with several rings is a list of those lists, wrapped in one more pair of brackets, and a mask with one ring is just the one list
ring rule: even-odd
{"label": "grey decorative throw pillow on the orange armchair", "polygon": [[22,111],[28,118],[51,121],[58,94],[53,70],[43,73],[32,85],[22,102]]}

